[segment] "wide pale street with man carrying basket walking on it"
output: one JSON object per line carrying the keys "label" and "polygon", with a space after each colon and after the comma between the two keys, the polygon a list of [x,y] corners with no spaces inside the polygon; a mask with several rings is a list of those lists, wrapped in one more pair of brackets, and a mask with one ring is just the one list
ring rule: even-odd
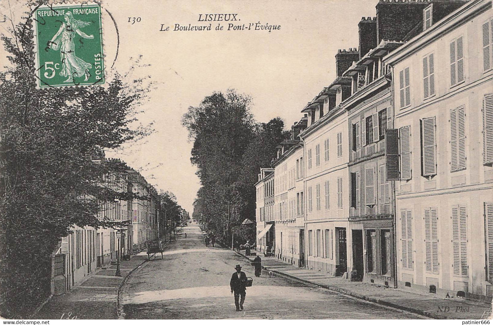
{"label": "wide pale street with man carrying basket walking on it", "polygon": [[[242,312],[235,311],[229,289],[236,264],[253,278]],[[205,247],[196,225],[182,229],[163,260],[159,256],[134,272],[121,297],[126,319],[421,318],[285,278],[255,278],[245,258],[221,247]]]}

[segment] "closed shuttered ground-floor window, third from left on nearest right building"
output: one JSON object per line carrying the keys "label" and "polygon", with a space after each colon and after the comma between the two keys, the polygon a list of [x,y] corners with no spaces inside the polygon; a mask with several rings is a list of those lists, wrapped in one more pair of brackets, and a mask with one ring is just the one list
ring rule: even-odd
{"label": "closed shuttered ground-floor window, third from left on nearest right building", "polygon": [[452,206],[454,275],[467,277],[467,212],[465,204]]}

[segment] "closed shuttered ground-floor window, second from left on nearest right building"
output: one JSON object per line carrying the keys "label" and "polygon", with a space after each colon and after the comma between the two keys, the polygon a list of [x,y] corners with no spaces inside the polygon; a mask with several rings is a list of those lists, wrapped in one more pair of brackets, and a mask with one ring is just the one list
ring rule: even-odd
{"label": "closed shuttered ground-floor window, second from left on nearest right building", "polygon": [[424,209],[426,272],[438,274],[438,213],[436,206]]}

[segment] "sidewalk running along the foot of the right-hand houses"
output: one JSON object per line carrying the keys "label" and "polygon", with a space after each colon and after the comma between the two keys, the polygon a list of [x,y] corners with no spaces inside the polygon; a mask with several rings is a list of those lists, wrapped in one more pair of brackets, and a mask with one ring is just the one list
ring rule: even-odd
{"label": "sidewalk running along the foot of the right-hand houses", "polygon": [[[253,256],[245,256],[244,251],[241,251],[240,255],[253,260],[255,253],[255,250],[251,250]],[[263,256],[263,254],[260,254],[260,256]],[[463,298],[440,298],[432,293],[420,294],[399,288],[385,288],[370,283],[351,282],[346,279],[332,277],[327,273],[297,268],[283,263],[275,257],[262,257],[262,268],[264,269],[262,277],[268,276],[267,272],[272,271],[274,274],[284,277],[316,284],[359,299],[434,319],[490,319],[492,314],[492,306],[487,303],[474,302]]]}

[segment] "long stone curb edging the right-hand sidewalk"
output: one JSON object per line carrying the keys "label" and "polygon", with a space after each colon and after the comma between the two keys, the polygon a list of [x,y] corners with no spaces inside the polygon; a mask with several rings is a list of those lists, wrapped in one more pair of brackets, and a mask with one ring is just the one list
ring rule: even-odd
{"label": "long stone curb edging the right-hand sidewalk", "polygon": [[[238,255],[243,256],[244,258],[246,258],[249,261],[251,261],[246,255],[244,255],[242,253],[239,253],[237,251],[235,251],[235,253],[237,253]],[[353,291],[350,291],[350,290],[341,289],[341,288],[339,288],[337,286],[329,286],[329,285],[326,285],[326,284],[317,284],[317,283],[314,283],[314,282],[311,282],[311,281],[308,281],[308,280],[300,279],[298,277],[292,276],[290,274],[287,274],[287,273],[284,273],[284,272],[281,272],[281,271],[270,270],[268,267],[265,267],[265,266],[262,266],[262,269],[267,270],[267,271],[271,271],[272,273],[281,275],[282,277],[285,277],[285,278],[290,278],[292,280],[296,280],[296,281],[307,283],[307,284],[317,285],[319,287],[322,287],[322,288],[325,288],[325,289],[328,289],[328,290],[332,290],[332,291],[336,291],[336,292],[339,292],[339,293],[347,294],[347,295],[352,296],[354,298],[358,298],[358,299],[361,299],[361,300],[366,300],[366,301],[369,301],[369,302],[373,302],[373,303],[376,303],[376,304],[379,304],[379,305],[383,305],[383,306],[387,306],[387,307],[391,307],[391,308],[395,308],[395,309],[400,309],[400,310],[407,311],[407,312],[410,312],[410,313],[413,313],[413,314],[417,314],[417,315],[421,315],[421,316],[425,316],[425,317],[429,317],[429,318],[437,319],[437,320],[451,319],[451,318],[448,318],[446,316],[438,315],[438,314],[435,314],[435,313],[430,313],[430,312],[426,312],[426,311],[415,309],[415,308],[411,308],[411,307],[401,306],[401,305],[398,305],[398,304],[395,304],[395,303],[392,303],[392,302],[388,302],[388,301],[385,301],[385,300],[382,300],[382,299],[377,299],[377,298],[365,296],[363,294],[359,294],[359,293],[356,293],[356,292],[353,292]]]}

